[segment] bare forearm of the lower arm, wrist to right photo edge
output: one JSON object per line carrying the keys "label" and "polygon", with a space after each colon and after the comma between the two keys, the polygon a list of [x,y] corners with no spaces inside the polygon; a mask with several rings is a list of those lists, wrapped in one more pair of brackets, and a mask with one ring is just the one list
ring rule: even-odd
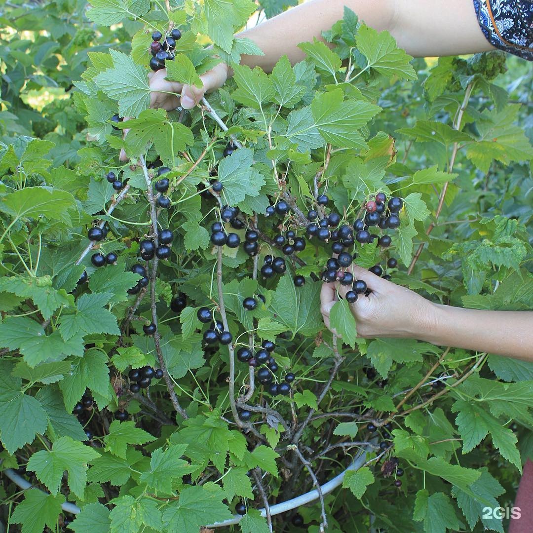
{"label": "bare forearm of the lower arm, wrist to right photo edge", "polygon": [[533,312],[433,305],[419,340],[533,361]]}

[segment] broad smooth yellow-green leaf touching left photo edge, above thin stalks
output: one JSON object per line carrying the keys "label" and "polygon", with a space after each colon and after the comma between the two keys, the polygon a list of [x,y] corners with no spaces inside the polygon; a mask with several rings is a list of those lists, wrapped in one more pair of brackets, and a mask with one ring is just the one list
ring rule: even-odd
{"label": "broad smooth yellow-green leaf touching left photo edge, above thin stalks", "polygon": [[25,187],[5,195],[0,201],[0,211],[14,219],[35,219],[41,217],[70,223],[69,211],[74,209],[74,197],[67,191],[46,187]]}

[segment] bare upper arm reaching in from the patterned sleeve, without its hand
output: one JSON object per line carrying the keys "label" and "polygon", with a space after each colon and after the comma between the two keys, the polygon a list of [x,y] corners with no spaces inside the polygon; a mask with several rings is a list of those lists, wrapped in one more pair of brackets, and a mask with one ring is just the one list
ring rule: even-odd
{"label": "bare upper arm reaching in from the patterned sleeve, without its hand", "polygon": [[401,48],[417,57],[492,50],[472,0],[310,0],[240,33],[265,53],[243,55],[241,62],[269,72],[284,54],[292,63],[301,61],[305,54],[297,45],[321,39],[321,31],[342,19],[344,6],[368,26],[390,31]]}

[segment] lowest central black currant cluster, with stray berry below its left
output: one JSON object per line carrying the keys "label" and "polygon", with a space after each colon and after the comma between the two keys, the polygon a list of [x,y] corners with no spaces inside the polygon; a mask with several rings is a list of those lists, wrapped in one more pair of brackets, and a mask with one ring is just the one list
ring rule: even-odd
{"label": "lowest central black currant cluster, with stray berry below its left", "polygon": [[[284,382],[274,382],[274,374],[278,371],[276,359],[274,359],[272,354],[275,349],[276,345],[273,342],[263,341],[261,348],[255,354],[249,348],[239,348],[237,359],[253,368],[258,368],[256,372],[257,381],[262,385],[268,386],[268,391],[272,396],[278,394],[287,396],[290,393],[290,383],[294,381],[295,376],[292,372],[289,372],[285,375]],[[246,422],[249,420],[250,415],[249,411],[243,410],[240,417]]]}

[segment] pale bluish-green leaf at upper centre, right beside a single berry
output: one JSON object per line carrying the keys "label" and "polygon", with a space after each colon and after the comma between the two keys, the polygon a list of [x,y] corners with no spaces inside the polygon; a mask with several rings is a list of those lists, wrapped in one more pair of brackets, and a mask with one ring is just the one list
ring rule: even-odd
{"label": "pale bluish-green leaf at upper centre, right beside a single berry", "polygon": [[264,177],[253,167],[254,152],[248,148],[239,148],[219,164],[219,181],[223,185],[224,203],[237,205],[247,196],[259,195],[265,184]]}

